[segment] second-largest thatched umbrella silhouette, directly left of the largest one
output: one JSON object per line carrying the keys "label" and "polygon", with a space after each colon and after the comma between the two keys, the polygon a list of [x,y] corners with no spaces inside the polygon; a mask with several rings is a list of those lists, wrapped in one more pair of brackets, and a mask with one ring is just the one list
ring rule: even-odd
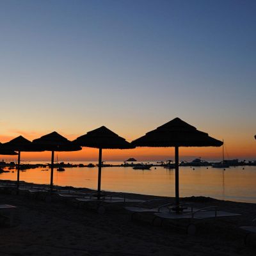
{"label": "second-largest thatched umbrella silhouette, directly left of the largest one", "polygon": [[102,149],[128,149],[134,148],[131,143],[127,142],[124,138],[115,134],[115,132],[109,130],[107,127],[102,126],[93,131],[78,137],[74,140],[79,146],[99,148],[99,173],[98,173],[98,189],[97,198],[100,199],[100,183],[101,183],[101,164],[102,164]]}

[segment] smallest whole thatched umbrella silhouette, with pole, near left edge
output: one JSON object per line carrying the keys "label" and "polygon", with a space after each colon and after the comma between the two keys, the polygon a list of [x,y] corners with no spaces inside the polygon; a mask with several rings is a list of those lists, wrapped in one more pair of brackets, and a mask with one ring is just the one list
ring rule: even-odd
{"label": "smallest whole thatched umbrella silhouette, with pole, near left edge", "polygon": [[3,144],[4,147],[18,151],[18,164],[17,164],[17,193],[19,189],[19,182],[20,182],[20,152],[35,152],[35,151],[43,151],[38,150],[38,148],[33,145],[33,143],[23,136],[19,136],[9,142]]}

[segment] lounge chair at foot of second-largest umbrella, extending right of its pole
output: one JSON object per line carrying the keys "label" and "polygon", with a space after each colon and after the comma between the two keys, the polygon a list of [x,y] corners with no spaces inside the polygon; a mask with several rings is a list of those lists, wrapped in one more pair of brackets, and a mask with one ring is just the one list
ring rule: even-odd
{"label": "lounge chair at foot of second-largest umbrella, extending right of its pole", "polygon": [[99,214],[103,214],[104,212],[106,212],[106,205],[145,202],[145,200],[126,198],[124,193],[103,195],[100,197],[100,199],[97,198],[97,193],[93,193],[92,195],[84,196],[83,198],[76,198],[76,200],[77,202],[79,202],[80,205],[86,204],[88,202],[95,202],[95,204],[97,204],[97,212]]}

